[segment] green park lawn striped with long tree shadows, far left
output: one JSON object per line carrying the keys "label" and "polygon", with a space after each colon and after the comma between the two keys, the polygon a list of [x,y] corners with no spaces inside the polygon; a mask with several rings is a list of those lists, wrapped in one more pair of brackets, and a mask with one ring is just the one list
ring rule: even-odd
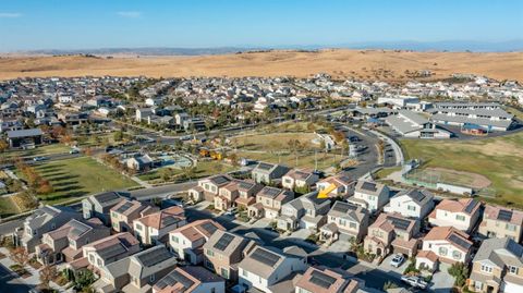
{"label": "green park lawn striped with long tree shadows, far left", "polygon": [[49,161],[37,166],[36,170],[54,187],[53,193],[39,196],[48,204],[137,185],[134,181],[89,157]]}

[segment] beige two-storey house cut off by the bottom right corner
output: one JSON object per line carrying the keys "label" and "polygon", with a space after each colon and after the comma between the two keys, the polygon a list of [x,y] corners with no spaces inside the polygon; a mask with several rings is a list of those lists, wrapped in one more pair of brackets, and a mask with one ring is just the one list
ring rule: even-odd
{"label": "beige two-storey house cut off by the bottom right corner", "polygon": [[523,292],[523,246],[508,237],[485,240],[472,260],[467,285],[474,292]]}

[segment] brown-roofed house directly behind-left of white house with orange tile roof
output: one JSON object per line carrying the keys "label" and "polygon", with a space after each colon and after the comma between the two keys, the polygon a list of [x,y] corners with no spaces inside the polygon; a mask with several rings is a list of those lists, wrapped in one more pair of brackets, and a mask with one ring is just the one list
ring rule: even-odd
{"label": "brown-roofed house directly behind-left of white house with orange tile roof", "polygon": [[110,208],[112,229],[117,232],[133,231],[134,220],[158,210],[138,200],[123,199]]}

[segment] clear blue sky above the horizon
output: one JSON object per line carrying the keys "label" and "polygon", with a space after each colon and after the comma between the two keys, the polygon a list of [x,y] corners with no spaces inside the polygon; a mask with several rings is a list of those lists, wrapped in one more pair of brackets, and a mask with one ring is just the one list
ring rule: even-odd
{"label": "clear blue sky above the horizon", "polygon": [[0,0],[0,51],[523,38],[523,1]]}

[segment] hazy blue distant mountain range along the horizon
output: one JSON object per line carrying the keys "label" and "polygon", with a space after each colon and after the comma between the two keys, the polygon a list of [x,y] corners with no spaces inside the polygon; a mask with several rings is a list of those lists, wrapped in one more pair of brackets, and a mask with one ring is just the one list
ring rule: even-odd
{"label": "hazy blue distant mountain range along the horizon", "polygon": [[170,48],[170,47],[150,47],[150,48],[100,48],[100,49],[46,49],[31,50],[23,53],[29,54],[136,54],[136,56],[202,56],[202,54],[223,54],[235,53],[240,51],[257,51],[271,49],[295,49],[295,50],[318,50],[318,49],[384,49],[384,50],[413,50],[413,51],[473,51],[473,52],[510,52],[523,51],[523,39],[500,42],[487,41],[466,41],[466,40],[447,40],[447,41],[366,41],[348,42],[332,46],[324,45],[296,45],[278,47],[217,47],[217,48]]}

